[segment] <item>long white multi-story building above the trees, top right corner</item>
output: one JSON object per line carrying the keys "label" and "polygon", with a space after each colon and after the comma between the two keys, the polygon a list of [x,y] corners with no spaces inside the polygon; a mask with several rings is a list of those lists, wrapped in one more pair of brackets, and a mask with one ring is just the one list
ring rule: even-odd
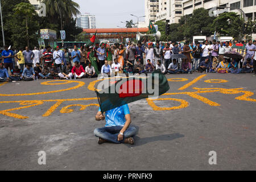
{"label": "long white multi-story building above the trees, top right corner", "polygon": [[[192,15],[193,10],[203,7],[210,10],[216,6],[238,7],[242,9],[247,18],[256,19],[256,0],[183,0],[183,15]],[[240,11],[228,9],[240,14]]]}

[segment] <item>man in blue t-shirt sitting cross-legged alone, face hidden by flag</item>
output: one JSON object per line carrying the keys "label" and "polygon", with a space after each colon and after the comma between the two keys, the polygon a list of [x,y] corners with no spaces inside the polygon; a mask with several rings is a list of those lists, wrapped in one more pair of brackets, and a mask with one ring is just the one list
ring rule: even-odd
{"label": "man in blue t-shirt sitting cross-legged alone, face hidden by flag", "polygon": [[134,144],[133,136],[137,133],[135,127],[130,126],[131,116],[128,105],[122,105],[105,112],[106,117],[101,113],[101,109],[96,114],[96,120],[106,119],[105,127],[94,130],[94,135],[99,137],[98,144],[106,141],[113,143]]}

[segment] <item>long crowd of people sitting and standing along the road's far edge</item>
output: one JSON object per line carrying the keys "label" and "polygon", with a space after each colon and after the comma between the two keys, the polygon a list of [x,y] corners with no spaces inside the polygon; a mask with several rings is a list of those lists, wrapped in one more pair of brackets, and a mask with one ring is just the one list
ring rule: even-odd
{"label": "long crowd of people sitting and standing along the road's far edge", "polygon": [[[232,48],[240,43],[245,49]],[[217,42],[205,40],[203,43],[176,42],[146,43],[128,42],[96,44],[96,46],[76,46],[67,48],[51,46],[29,47],[19,51],[5,46],[1,50],[0,82],[32,81],[42,79],[79,79],[105,74],[117,76],[119,73],[151,73],[159,69],[163,74],[214,72],[253,73],[256,69],[256,40],[246,42]],[[237,52],[241,58],[226,57],[226,52]],[[183,55],[180,56],[180,55]],[[176,55],[176,56],[175,56]],[[180,56],[180,57],[179,57]]]}

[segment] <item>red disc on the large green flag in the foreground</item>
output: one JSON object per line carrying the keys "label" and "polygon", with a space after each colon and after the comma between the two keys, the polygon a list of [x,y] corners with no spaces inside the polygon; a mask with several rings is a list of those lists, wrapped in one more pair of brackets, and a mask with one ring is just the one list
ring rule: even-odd
{"label": "red disc on the large green flag in the foreground", "polygon": [[136,97],[142,94],[144,84],[141,80],[129,80],[124,82],[119,88],[119,97]]}

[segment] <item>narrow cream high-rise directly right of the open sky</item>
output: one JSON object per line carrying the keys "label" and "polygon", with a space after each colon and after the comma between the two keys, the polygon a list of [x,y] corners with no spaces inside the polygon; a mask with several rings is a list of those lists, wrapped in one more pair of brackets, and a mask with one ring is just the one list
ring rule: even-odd
{"label": "narrow cream high-rise directly right of the open sky", "polygon": [[145,23],[155,23],[157,13],[159,13],[159,0],[145,0]]}

